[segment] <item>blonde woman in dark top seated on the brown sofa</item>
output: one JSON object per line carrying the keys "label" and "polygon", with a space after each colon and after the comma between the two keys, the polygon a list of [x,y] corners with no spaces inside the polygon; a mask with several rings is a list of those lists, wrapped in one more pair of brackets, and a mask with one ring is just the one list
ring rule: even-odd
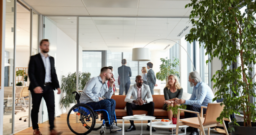
{"label": "blonde woman in dark top seated on the brown sofa", "polygon": [[[165,101],[162,109],[167,110],[168,106],[173,107],[175,105],[178,105],[175,102],[175,98],[181,99],[182,93],[183,93],[183,88],[180,86],[177,76],[171,74],[168,77],[168,83],[163,89],[163,95],[164,95]],[[167,113],[168,113],[169,120],[171,120],[173,115],[172,110],[167,111]],[[176,130],[174,129],[173,131],[176,131]],[[172,132],[172,131],[169,130],[169,132]]]}

